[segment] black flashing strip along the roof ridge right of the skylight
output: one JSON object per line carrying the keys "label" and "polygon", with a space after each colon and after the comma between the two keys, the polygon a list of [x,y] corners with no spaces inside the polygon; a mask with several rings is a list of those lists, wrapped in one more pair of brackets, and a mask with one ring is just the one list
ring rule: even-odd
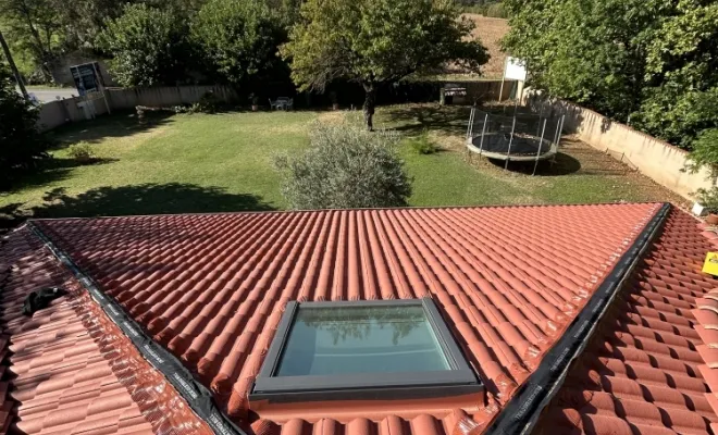
{"label": "black flashing strip along the roof ridge right of the skylight", "polygon": [[670,208],[670,203],[664,203],[643,228],[606,279],[598,286],[589,303],[581,310],[556,345],[544,356],[538,369],[529,376],[488,426],[485,435],[528,434],[533,430],[542,411],[564,384],[571,363],[583,352],[623,282],[661,228]]}

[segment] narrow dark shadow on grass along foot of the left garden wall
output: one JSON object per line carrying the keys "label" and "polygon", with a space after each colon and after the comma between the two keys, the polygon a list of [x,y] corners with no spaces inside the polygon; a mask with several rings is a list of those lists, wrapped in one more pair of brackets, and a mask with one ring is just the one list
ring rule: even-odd
{"label": "narrow dark shadow on grass along foot of the left garden wall", "polygon": [[135,112],[121,112],[91,121],[65,124],[47,135],[55,141],[55,148],[64,148],[78,141],[96,144],[108,137],[131,136],[172,123],[172,116],[174,113],[166,111],[147,112],[145,122],[140,123]]}

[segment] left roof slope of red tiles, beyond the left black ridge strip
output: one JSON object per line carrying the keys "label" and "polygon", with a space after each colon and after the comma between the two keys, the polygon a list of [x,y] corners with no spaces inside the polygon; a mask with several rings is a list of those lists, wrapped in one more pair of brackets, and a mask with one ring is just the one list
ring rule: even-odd
{"label": "left roof slope of red tiles, beyond the left black ridge strip", "polygon": [[[0,433],[209,433],[27,228],[1,243]],[[23,316],[51,286],[70,294]]]}

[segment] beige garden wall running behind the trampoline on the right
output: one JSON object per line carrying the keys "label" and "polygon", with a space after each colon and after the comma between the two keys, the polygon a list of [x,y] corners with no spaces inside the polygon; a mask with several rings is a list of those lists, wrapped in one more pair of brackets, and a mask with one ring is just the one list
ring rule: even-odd
{"label": "beige garden wall running behind the trampoline on the right", "polygon": [[[541,104],[537,100],[531,103]],[[696,174],[685,171],[688,152],[678,147],[579,105],[558,101],[552,109],[556,114],[566,114],[565,132],[577,134],[593,148],[609,151],[614,158],[686,199],[693,199],[692,194],[698,188],[714,184],[708,170]]]}

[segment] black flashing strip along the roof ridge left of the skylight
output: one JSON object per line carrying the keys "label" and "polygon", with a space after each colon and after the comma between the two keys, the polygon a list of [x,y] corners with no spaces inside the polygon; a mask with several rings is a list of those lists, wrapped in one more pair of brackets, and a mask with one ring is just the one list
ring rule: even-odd
{"label": "black flashing strip along the roof ridge left of the skylight", "polygon": [[174,386],[177,393],[187,401],[191,410],[203,420],[215,434],[247,435],[237,427],[228,417],[220,411],[212,399],[212,393],[200,384],[182,362],[156,343],[150,334],[117,303],[114,298],[106,295],[99,286],[85,274],[77,264],[33,222],[28,221],[30,231],[45,243],[52,254],[75,275],[87,289],[92,299],[104,310],[104,313],[132,340],[137,351],[154,366]]}

